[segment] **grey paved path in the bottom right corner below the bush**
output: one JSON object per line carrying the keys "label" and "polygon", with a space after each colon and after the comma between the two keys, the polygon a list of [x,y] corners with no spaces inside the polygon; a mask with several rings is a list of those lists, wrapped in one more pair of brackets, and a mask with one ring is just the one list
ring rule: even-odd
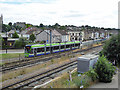
{"label": "grey paved path in the bottom right corner below the bush", "polygon": [[[93,89],[100,89],[100,90],[120,90],[120,70],[118,70],[117,74],[113,76],[112,82],[111,83],[103,83],[103,82],[98,82],[90,87],[88,87],[85,90],[93,90]],[[118,88],[119,86],[119,88]]]}

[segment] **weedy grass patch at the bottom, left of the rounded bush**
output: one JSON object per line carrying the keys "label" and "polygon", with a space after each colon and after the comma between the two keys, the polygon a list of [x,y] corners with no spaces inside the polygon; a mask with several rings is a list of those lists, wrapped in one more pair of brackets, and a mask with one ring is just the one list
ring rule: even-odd
{"label": "weedy grass patch at the bottom, left of the rounded bush", "polygon": [[64,73],[60,78],[42,88],[80,88],[81,85],[83,85],[84,88],[87,88],[94,83],[96,83],[96,81],[93,82],[87,75],[81,74],[81,76],[78,76],[77,71],[75,71],[72,73],[72,81],[69,80],[69,74]]}

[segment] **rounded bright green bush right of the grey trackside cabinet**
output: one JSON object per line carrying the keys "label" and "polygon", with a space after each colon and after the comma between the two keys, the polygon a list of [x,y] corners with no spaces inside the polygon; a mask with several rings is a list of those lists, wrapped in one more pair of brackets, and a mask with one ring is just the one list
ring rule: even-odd
{"label": "rounded bright green bush right of the grey trackside cabinet", "polygon": [[95,65],[95,72],[98,74],[99,81],[111,82],[115,67],[104,56],[101,56]]}

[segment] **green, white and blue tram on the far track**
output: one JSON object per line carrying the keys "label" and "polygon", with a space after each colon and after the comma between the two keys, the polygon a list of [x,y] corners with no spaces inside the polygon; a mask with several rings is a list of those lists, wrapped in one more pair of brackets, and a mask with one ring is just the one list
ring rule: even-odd
{"label": "green, white and blue tram on the far track", "polygon": [[80,41],[51,44],[33,44],[26,45],[24,48],[25,57],[35,57],[50,53],[63,52],[77,49],[80,47]]}

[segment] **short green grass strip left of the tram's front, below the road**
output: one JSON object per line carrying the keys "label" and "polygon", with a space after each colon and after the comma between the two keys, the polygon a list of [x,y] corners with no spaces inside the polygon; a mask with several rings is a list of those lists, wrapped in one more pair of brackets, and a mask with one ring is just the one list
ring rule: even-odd
{"label": "short green grass strip left of the tram's front, below the road", "polygon": [[11,58],[19,58],[24,56],[24,53],[7,53],[7,54],[0,54],[0,58],[4,59],[11,59]]}

